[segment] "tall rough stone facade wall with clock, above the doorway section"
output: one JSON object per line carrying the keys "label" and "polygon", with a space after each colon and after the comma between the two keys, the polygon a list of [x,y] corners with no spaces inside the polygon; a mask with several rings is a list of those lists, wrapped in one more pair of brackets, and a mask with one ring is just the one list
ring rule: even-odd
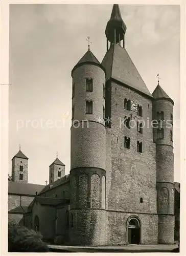
{"label": "tall rough stone facade wall with clock, above the doorway section", "polygon": [[[112,166],[106,169],[107,207],[157,214],[156,148],[150,125],[152,101],[114,82],[111,92],[112,126],[111,129],[107,128],[107,138],[110,138],[111,144],[111,152],[108,150],[107,152],[111,153],[111,156],[107,155],[106,159],[111,158]],[[143,120],[146,124],[149,122],[149,127],[144,126],[143,134],[137,132],[136,126],[130,130],[124,127],[122,121],[125,116],[132,118],[137,116],[135,112],[124,110],[125,98],[142,105]],[[125,136],[130,137],[130,149],[124,147]],[[137,152],[137,141],[143,142],[143,153]],[[140,198],[143,198],[143,203],[140,202]]]}

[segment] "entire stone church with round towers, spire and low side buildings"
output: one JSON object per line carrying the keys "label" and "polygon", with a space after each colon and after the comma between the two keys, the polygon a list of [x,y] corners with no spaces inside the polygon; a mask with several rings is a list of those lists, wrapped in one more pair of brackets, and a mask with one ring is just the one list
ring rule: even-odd
{"label": "entire stone church with round towers, spire and low side buildings", "polygon": [[[28,183],[28,157],[12,159],[9,220],[56,244],[174,243],[173,100],[151,94],[125,49],[113,5],[100,63],[90,51],[72,69],[71,170],[58,159],[49,184]],[[178,207],[178,206],[177,206]]]}

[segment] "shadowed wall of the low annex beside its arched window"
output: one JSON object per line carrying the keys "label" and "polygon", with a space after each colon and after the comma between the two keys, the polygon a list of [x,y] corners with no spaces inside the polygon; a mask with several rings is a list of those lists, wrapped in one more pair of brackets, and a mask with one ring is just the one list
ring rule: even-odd
{"label": "shadowed wall of the low annex beside its arched window", "polygon": [[34,220],[36,215],[39,218],[39,231],[44,240],[54,240],[56,225],[55,207],[34,204],[32,211],[32,228],[34,229]]}

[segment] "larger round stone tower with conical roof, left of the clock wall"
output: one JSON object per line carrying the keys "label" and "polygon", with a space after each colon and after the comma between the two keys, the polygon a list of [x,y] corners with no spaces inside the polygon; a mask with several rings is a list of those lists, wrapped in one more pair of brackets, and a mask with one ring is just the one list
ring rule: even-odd
{"label": "larger round stone tower with conical roof, left of the clock wall", "polygon": [[105,70],[89,48],[72,78],[70,238],[72,244],[104,245]]}

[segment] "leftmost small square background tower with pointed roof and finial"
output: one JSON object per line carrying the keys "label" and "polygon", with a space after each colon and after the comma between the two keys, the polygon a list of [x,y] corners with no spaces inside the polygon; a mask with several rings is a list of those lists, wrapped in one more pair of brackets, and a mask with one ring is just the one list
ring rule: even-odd
{"label": "leftmost small square background tower with pointed roof and finial", "polygon": [[28,183],[28,157],[20,150],[12,158],[12,181]]}

